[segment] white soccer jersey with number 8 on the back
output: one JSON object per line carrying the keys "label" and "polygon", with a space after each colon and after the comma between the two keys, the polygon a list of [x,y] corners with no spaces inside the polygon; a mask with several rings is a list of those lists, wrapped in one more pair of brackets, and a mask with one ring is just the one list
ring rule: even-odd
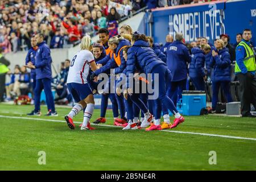
{"label": "white soccer jersey with number 8 on the back", "polygon": [[81,50],[73,57],[69,71],[67,83],[87,83],[86,78],[89,74],[89,64],[94,61],[92,52],[88,50]]}

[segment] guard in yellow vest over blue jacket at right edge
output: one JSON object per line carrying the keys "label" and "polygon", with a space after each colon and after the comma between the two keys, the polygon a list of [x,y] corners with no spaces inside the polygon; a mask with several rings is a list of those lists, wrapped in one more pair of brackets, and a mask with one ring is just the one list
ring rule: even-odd
{"label": "guard in yellow vest over blue jacket at right edge", "polygon": [[235,73],[240,82],[242,117],[256,117],[251,115],[250,104],[256,105],[256,63],[255,51],[250,44],[251,30],[243,31],[243,39],[236,48]]}

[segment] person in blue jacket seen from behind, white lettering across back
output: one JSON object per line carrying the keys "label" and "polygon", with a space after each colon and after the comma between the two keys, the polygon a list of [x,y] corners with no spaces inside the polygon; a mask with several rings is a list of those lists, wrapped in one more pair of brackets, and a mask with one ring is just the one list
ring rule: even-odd
{"label": "person in blue jacket seen from behind, white lettering across back", "polygon": [[186,89],[188,63],[191,62],[191,56],[188,48],[183,44],[183,39],[183,34],[177,32],[175,41],[167,49],[167,65],[172,72],[172,80],[167,93],[174,101],[175,106],[177,105],[177,96],[180,97],[182,91]]}

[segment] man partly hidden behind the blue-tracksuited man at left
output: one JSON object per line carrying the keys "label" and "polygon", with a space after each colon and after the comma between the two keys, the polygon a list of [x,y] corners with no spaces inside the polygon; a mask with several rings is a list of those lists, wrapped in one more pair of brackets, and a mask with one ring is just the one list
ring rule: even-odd
{"label": "man partly hidden behind the blue-tracksuited man at left", "polygon": [[[35,65],[35,55],[36,51],[38,50],[38,46],[36,45],[36,39],[35,35],[32,36],[31,38],[31,48],[28,50],[27,56],[26,56],[26,65],[31,62],[32,64]],[[33,93],[35,92],[35,86],[36,86],[36,70],[31,69],[30,72],[30,80],[32,83],[32,89]]]}

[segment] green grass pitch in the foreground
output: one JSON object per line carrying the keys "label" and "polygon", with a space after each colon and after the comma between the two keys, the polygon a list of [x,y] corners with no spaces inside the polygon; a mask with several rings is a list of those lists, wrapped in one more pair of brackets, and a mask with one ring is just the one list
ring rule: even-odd
{"label": "green grass pitch in the foreground", "polygon": [[[0,105],[0,170],[255,170],[256,119],[204,115],[185,117],[171,131],[128,130],[95,126],[70,130],[64,121],[69,108],[57,107],[59,117],[30,117],[33,106]],[[43,114],[46,107],[42,107]],[[100,115],[94,110],[92,121]],[[14,118],[11,118],[14,117]],[[16,117],[16,118],[15,118]],[[24,118],[26,117],[26,118]],[[106,125],[113,125],[112,110]],[[82,121],[82,113],[75,121]],[[196,135],[228,135],[234,139]],[[39,165],[39,151],[46,165]],[[209,164],[216,151],[217,164]]]}

